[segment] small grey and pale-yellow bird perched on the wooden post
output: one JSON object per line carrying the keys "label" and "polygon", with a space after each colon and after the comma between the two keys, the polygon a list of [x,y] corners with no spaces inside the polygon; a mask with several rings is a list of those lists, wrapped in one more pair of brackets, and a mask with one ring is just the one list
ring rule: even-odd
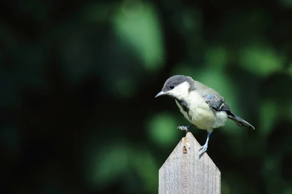
{"label": "small grey and pale-yellow bird perched on the wooden post", "polygon": [[191,123],[188,126],[179,126],[178,129],[185,130],[186,133],[192,126],[207,130],[207,139],[199,149],[199,158],[207,151],[213,129],[223,127],[227,119],[233,120],[239,127],[255,129],[232,113],[225,99],[216,90],[189,76],[175,75],[168,78],[155,98],[160,96],[174,98],[181,113]]}

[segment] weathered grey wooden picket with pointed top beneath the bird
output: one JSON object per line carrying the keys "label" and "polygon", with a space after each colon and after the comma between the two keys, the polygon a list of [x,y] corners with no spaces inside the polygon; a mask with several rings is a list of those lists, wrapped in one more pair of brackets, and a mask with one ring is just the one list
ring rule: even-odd
{"label": "weathered grey wooden picket with pointed top beneath the bird", "polygon": [[[190,145],[190,148],[189,146]],[[191,132],[159,169],[159,194],[220,194],[221,173]]]}

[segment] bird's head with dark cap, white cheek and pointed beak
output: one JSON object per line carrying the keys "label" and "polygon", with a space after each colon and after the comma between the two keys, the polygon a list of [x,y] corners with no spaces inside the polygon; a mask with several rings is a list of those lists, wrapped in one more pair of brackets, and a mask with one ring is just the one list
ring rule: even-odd
{"label": "bird's head with dark cap, white cheek and pointed beak", "polygon": [[168,78],[164,86],[155,97],[169,96],[176,99],[182,99],[187,96],[193,86],[193,79],[188,76],[176,75]]}

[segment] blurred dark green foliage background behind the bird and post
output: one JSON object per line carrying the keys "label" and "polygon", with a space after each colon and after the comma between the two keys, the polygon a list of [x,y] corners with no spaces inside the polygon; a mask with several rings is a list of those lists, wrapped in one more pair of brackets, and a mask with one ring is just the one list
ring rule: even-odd
{"label": "blurred dark green foliage background behind the bird and post", "polygon": [[154,98],[176,74],[256,128],[212,133],[221,193],[292,194],[292,0],[4,0],[0,18],[1,194],[157,194],[188,125]]}

